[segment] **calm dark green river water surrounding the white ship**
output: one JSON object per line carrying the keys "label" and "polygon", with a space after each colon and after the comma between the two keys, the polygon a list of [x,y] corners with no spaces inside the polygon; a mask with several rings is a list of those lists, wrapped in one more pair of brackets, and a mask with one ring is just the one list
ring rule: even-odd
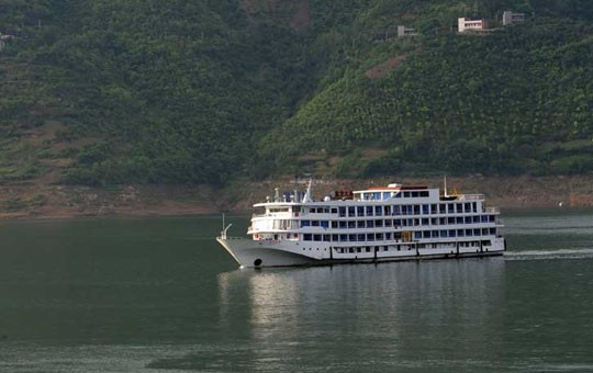
{"label": "calm dark green river water surrounding the white ship", "polygon": [[503,216],[504,258],[265,270],[220,217],[1,222],[0,372],[593,372],[593,211]]}

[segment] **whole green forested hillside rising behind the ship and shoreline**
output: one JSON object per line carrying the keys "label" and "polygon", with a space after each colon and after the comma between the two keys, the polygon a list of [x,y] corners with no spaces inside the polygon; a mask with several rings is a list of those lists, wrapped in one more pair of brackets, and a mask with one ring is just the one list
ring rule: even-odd
{"label": "whole green forested hillside rising behind the ship and shoreline", "polygon": [[584,0],[0,0],[0,182],[591,172],[592,21]]}

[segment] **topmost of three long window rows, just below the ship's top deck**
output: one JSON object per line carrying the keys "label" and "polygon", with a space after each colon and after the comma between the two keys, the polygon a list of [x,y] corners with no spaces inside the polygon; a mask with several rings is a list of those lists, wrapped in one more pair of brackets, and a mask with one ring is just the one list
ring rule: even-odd
{"label": "topmost of three long window rows, just below the ship's top deck", "polygon": [[360,216],[393,216],[393,215],[435,215],[477,213],[477,202],[439,203],[424,205],[379,205],[379,206],[339,206],[339,207],[310,207],[311,214],[339,214],[340,217]]}

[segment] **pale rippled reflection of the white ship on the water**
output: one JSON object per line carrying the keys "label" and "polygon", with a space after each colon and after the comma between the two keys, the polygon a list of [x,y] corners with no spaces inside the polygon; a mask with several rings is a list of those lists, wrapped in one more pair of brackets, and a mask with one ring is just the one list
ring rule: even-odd
{"label": "pale rippled reflection of the white ship on the water", "polygon": [[[253,363],[267,370],[335,364],[345,354],[389,369],[418,349],[448,353],[484,340],[489,359],[502,353],[501,258],[234,271],[219,275],[219,287],[221,328],[247,323]],[[450,344],[436,344],[443,336]]]}

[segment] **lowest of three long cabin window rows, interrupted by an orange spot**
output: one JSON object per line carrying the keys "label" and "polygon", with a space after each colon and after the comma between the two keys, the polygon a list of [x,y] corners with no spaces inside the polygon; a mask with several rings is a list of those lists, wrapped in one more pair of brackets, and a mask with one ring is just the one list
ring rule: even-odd
{"label": "lowest of three long cabin window rows, interrupted by an orange spot", "polygon": [[[414,239],[423,238],[455,238],[455,237],[478,237],[493,236],[496,234],[496,228],[482,229],[441,229],[441,230],[418,230],[414,231]],[[378,233],[378,234],[349,234],[349,235],[315,235],[304,234],[303,241],[327,241],[327,242],[368,242],[383,240],[402,239],[402,234],[395,233]]]}

